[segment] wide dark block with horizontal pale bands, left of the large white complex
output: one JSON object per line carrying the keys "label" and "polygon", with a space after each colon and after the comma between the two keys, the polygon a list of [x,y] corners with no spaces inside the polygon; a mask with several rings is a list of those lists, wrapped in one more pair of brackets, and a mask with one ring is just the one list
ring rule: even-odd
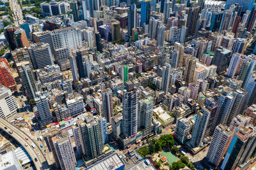
{"label": "wide dark block with horizontal pale bands, left of the large white complex", "polygon": [[42,69],[53,64],[51,46],[45,43],[35,43],[29,47],[29,56],[34,69]]}

